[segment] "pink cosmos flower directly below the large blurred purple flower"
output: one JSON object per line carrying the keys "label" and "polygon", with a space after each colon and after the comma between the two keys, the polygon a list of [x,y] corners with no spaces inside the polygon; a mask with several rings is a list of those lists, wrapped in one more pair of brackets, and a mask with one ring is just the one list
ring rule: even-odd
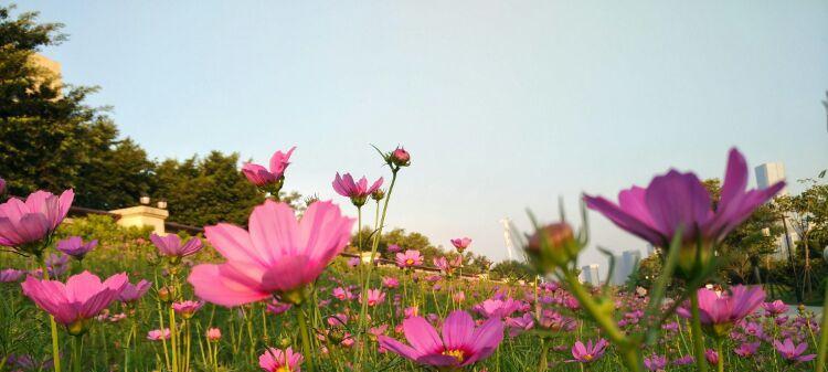
{"label": "pink cosmos flower directly below the large blurred purple flower", "polygon": [[[734,323],[753,313],[765,300],[765,291],[762,287],[735,286],[730,294],[719,294],[708,288],[700,288],[699,318],[702,326],[713,336],[724,337]],[[687,308],[679,308],[678,312],[684,318],[690,318]]]}

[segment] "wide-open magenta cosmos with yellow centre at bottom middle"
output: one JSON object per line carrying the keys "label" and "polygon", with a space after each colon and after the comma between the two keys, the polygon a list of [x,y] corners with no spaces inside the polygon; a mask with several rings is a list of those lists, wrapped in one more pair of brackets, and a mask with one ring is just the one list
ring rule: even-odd
{"label": "wide-open magenta cosmos with yellow centre at bottom middle", "polygon": [[503,340],[503,322],[489,319],[475,328],[475,320],[456,310],[443,322],[442,338],[422,317],[403,320],[403,331],[411,346],[386,336],[379,336],[380,346],[401,357],[440,371],[474,364],[491,355]]}

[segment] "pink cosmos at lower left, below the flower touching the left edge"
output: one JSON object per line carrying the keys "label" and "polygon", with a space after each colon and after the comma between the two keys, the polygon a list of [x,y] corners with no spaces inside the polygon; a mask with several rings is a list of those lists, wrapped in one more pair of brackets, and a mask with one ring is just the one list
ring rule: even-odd
{"label": "pink cosmos at lower left, below the flower touching the left edge", "polygon": [[21,286],[23,295],[41,309],[54,316],[55,321],[66,326],[70,333],[86,331],[89,320],[104,310],[127,284],[126,274],[113,275],[105,281],[83,272],[71,276],[64,285],[57,280],[40,280],[28,277]]}

